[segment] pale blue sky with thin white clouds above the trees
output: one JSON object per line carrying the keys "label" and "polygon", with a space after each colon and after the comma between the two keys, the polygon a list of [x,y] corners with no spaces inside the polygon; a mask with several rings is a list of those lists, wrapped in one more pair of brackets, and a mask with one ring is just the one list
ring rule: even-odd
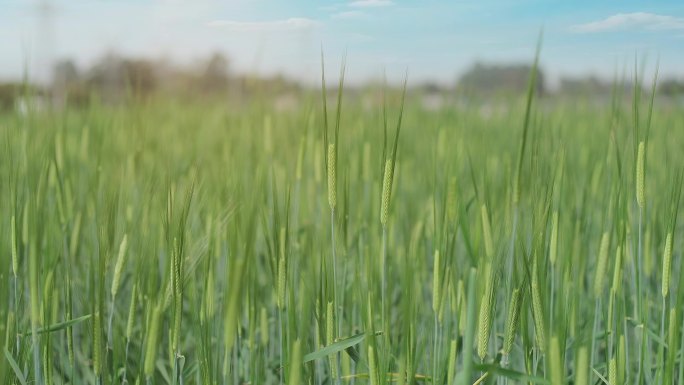
{"label": "pale blue sky with thin white clouds above the trees", "polygon": [[[47,4],[47,5],[45,5]],[[180,65],[223,52],[240,73],[352,83],[452,84],[474,62],[529,63],[561,76],[633,72],[684,78],[681,0],[0,0],[0,80],[46,79],[107,52]]]}

